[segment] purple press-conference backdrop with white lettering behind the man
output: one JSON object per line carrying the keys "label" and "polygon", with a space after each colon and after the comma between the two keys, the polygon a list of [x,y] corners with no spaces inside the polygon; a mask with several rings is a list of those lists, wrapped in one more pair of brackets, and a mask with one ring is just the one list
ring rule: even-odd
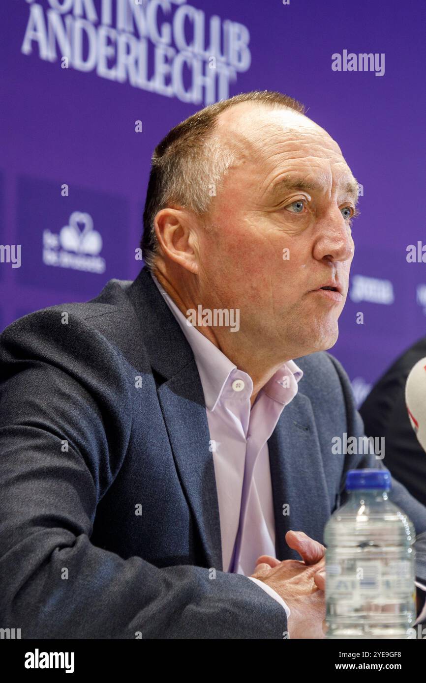
{"label": "purple press-conference backdrop with white lettering behind the man", "polygon": [[424,0],[136,5],[0,3],[1,328],[133,279],[155,144],[204,104],[278,89],[338,141],[361,185],[332,350],[361,400],[426,334]]}

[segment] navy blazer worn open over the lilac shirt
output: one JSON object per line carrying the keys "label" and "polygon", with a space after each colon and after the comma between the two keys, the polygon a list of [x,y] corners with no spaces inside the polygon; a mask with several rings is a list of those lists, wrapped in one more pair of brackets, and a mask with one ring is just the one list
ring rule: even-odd
{"label": "navy blazer worn open over the lilac shirt", "polygon": [[[330,354],[295,359],[298,393],[268,441],[276,555],[319,542],[362,436]],[[0,337],[0,626],[23,638],[282,638],[284,609],[222,572],[219,509],[194,355],[147,270]],[[426,580],[426,508],[393,480]],[[235,501],[238,504],[238,501]],[[283,514],[289,505],[289,514]]]}

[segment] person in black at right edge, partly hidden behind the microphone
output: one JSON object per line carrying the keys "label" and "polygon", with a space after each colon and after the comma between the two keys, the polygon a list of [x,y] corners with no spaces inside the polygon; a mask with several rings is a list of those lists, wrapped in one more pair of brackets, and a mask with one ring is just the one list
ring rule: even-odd
{"label": "person in black at right edge, partly hidden behind the microphone", "polygon": [[365,433],[384,436],[386,466],[418,501],[426,505],[426,454],[410,424],[405,382],[426,356],[426,337],[418,339],[392,363],[360,407]]}

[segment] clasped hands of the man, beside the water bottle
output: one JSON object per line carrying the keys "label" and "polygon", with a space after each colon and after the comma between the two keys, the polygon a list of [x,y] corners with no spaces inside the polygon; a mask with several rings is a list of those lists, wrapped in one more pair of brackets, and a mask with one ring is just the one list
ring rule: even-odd
{"label": "clasped hands of the man, beside the water bottle", "polygon": [[252,576],[269,585],[289,605],[291,638],[323,638],[325,548],[303,531],[287,531],[286,541],[302,561],[261,555]]}

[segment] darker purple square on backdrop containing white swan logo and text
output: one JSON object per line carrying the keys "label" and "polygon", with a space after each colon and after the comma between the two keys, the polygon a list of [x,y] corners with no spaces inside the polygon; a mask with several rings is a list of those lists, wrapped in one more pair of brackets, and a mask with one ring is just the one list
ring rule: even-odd
{"label": "darker purple square on backdrop containing white swan logo and text", "polygon": [[68,185],[63,179],[20,176],[16,241],[23,245],[23,266],[15,271],[16,277],[22,284],[42,284],[55,293],[94,296],[101,278],[130,275],[134,249],[129,244],[129,225],[125,197]]}

